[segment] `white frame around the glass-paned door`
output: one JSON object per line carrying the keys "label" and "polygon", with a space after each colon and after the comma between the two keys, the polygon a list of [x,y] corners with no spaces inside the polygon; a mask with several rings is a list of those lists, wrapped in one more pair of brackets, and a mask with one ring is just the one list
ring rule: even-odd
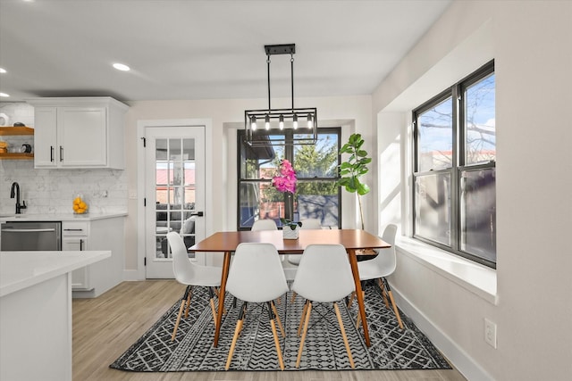
{"label": "white frame around the glass-paned door", "polygon": [[210,213],[213,212],[213,192],[208,192],[213,186],[213,160],[211,157],[213,147],[213,121],[210,119],[176,119],[176,120],[138,120],[137,122],[137,194],[130,199],[137,200],[137,277],[139,280],[146,279],[145,271],[145,147],[143,137],[147,127],[184,127],[184,126],[204,126],[205,127],[205,234],[213,234],[213,219]]}

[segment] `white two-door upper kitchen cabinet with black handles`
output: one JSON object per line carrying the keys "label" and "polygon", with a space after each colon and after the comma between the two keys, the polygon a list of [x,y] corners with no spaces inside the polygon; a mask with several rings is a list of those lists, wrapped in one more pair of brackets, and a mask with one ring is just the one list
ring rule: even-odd
{"label": "white two-door upper kitchen cabinet with black handles", "polygon": [[128,109],[110,97],[34,98],[35,168],[124,168]]}

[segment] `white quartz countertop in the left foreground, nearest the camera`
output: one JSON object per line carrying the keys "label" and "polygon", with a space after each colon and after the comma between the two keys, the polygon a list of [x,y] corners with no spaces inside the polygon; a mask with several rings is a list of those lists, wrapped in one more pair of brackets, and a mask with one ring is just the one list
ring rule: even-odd
{"label": "white quartz countertop in the left foreground, nearest the camera", "polygon": [[111,257],[111,251],[0,252],[0,297]]}

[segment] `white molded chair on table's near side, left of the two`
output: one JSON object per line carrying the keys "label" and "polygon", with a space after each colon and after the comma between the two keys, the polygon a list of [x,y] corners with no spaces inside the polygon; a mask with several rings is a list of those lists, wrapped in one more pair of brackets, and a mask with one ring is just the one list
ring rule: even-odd
{"label": "white molded chair on table's near side, left of the two", "polygon": [[273,300],[281,297],[282,294],[286,294],[288,285],[286,284],[286,277],[284,277],[282,263],[276,247],[273,244],[263,243],[239,244],[234,253],[231,269],[229,269],[226,291],[243,301],[244,304],[240,309],[239,319],[236,322],[225,369],[228,370],[231,366],[232,353],[242,329],[247,303],[265,302],[268,307],[270,327],[273,332],[278,362],[280,368],[284,370],[284,361],[282,360],[282,351],[278,335],[276,334],[274,319],[278,322],[282,336],[285,337],[286,335]]}

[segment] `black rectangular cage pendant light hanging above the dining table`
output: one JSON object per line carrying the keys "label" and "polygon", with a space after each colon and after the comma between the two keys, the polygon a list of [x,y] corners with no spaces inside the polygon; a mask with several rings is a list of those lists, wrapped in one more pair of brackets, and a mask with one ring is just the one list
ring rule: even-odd
{"label": "black rectangular cage pendant light hanging above the dining table", "polygon": [[[267,145],[315,145],[317,141],[317,110],[315,107],[310,108],[294,108],[294,54],[296,53],[295,44],[286,45],[266,45],[266,64],[268,74],[268,108],[265,110],[246,110],[244,112],[244,129],[246,143],[250,146],[267,146]],[[270,97],[270,56],[274,54],[290,54],[290,88],[292,106],[289,109],[273,109]],[[294,131],[293,137],[288,140],[272,140],[260,137],[265,135],[265,123],[270,123],[270,128],[276,128],[276,121],[283,120],[300,121],[298,128],[288,127]],[[254,123],[260,123],[260,128]],[[304,124],[306,122],[306,124]],[[290,125],[290,122],[289,122]],[[286,127],[283,127],[286,128]],[[279,127],[282,129],[282,127]],[[257,131],[262,131],[257,134]]]}

